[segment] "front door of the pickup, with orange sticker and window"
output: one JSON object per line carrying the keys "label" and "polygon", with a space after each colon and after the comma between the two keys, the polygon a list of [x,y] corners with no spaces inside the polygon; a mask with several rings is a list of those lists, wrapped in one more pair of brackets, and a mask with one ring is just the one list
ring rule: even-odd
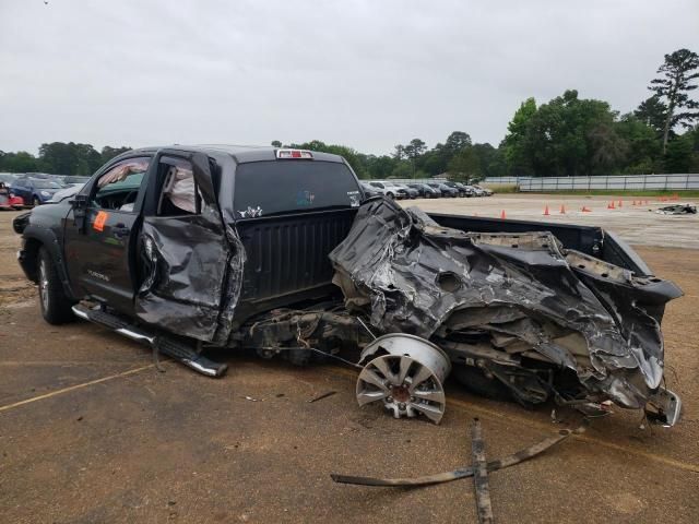
{"label": "front door of the pickup, with orange sticker and window", "polygon": [[[118,162],[81,191],[82,207],[64,221],[64,252],[76,296],[92,296],[118,311],[133,311],[139,195],[149,157]],[[84,215],[76,219],[78,215]]]}

